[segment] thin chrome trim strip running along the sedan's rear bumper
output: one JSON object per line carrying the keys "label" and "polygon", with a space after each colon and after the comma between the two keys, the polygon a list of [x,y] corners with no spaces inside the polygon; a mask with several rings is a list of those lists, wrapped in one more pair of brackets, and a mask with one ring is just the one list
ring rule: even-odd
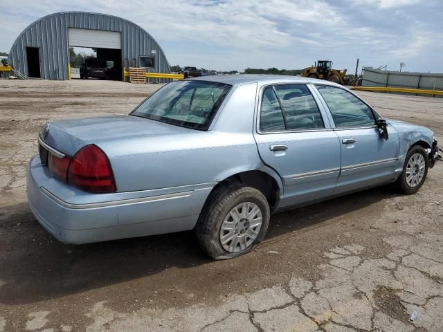
{"label": "thin chrome trim strip running along the sedan's rear bumper", "polygon": [[163,194],[163,195],[156,195],[156,196],[149,196],[149,197],[139,197],[136,199],[122,199],[120,201],[107,201],[102,203],[88,203],[88,204],[71,204],[67,203],[65,201],[62,201],[62,199],[59,199],[57,196],[49,192],[45,187],[40,187],[40,190],[48,196],[50,199],[53,199],[53,201],[59,203],[64,208],[68,209],[91,209],[91,208],[105,208],[107,206],[116,206],[116,205],[125,205],[125,204],[131,204],[131,203],[145,203],[145,202],[152,202],[152,201],[163,201],[165,199],[178,199],[182,197],[188,197],[194,192],[194,190],[190,190],[188,192],[175,192],[174,194]]}

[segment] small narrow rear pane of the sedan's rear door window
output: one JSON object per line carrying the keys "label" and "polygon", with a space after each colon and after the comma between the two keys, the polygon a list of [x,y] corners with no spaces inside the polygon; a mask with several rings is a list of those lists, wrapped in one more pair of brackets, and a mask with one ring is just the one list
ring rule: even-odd
{"label": "small narrow rear pane of the sedan's rear door window", "polygon": [[268,86],[263,91],[260,131],[282,131],[285,129],[282,109],[280,109],[277,95],[275,95],[272,86]]}

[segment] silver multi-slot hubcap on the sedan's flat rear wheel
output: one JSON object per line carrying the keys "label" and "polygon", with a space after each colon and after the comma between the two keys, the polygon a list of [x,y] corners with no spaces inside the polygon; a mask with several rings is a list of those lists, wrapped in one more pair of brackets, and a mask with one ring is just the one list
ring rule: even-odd
{"label": "silver multi-slot hubcap on the sedan's flat rear wheel", "polygon": [[228,252],[251,246],[262,227],[262,211],[251,202],[240,203],[226,215],[220,229],[220,243]]}

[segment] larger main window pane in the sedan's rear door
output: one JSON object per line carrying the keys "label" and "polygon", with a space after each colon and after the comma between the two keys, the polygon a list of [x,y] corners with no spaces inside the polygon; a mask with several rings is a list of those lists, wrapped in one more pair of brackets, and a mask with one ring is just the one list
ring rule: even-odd
{"label": "larger main window pane in the sedan's rear door", "polygon": [[286,116],[287,129],[324,128],[320,110],[307,86],[303,84],[276,85],[278,98]]}

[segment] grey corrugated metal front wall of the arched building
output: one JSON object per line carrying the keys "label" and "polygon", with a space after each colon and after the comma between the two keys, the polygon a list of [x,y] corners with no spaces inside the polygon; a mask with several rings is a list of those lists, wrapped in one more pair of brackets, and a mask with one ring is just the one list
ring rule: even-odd
{"label": "grey corrugated metal front wall of the arched building", "polygon": [[[15,40],[8,61],[28,77],[26,47],[38,47],[40,74],[51,80],[68,79],[69,40],[68,28],[117,31],[122,35],[122,62],[139,65],[141,55],[154,55],[154,73],[170,73],[168,60],[154,38],[140,26],[111,15],[91,12],[58,12],[30,24]],[[154,54],[154,52],[155,54]],[[167,82],[168,79],[156,79]]]}

